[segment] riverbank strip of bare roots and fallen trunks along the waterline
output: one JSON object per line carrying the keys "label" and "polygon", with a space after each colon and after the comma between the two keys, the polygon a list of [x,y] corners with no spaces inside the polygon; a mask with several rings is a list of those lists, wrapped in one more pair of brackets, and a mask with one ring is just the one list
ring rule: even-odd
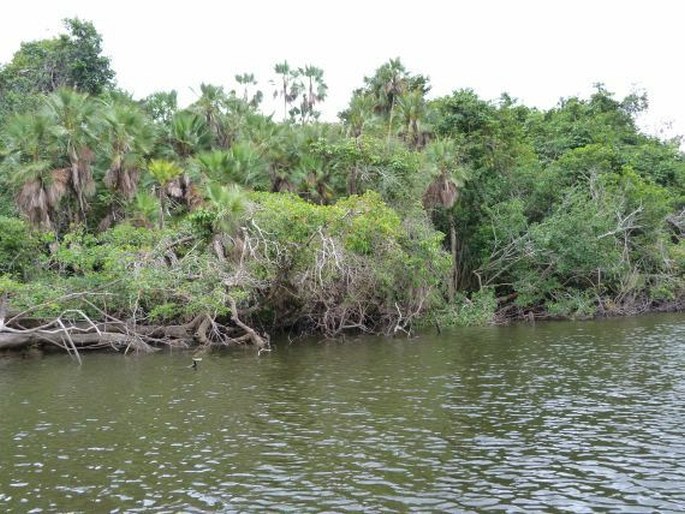
{"label": "riverbank strip of bare roots and fallen trunks along the waterline", "polygon": [[[0,306],[1,307],[1,306]],[[232,312],[239,313],[233,302]],[[563,317],[544,311],[524,311],[505,306],[494,313],[491,319],[480,325],[511,325],[530,324],[536,322],[561,322],[561,321],[586,321],[600,319],[635,318],[656,313],[682,313],[685,312],[685,300],[678,299],[670,302],[649,304],[642,302],[633,304],[632,307],[613,306],[611,310],[604,306],[601,313],[594,316]],[[271,349],[271,337],[283,337],[283,329],[270,334],[261,332],[258,328],[252,328],[241,321],[238,314],[232,315],[229,320],[217,321],[206,316],[198,316],[188,323],[166,325],[132,324],[119,320],[108,321],[68,321],[61,318],[53,320],[39,320],[26,318],[21,315],[10,314],[7,316],[6,309],[0,308],[0,354],[22,353],[23,355],[40,355],[43,351],[61,351],[72,355],[80,362],[79,352],[89,351],[114,351],[123,354],[131,352],[150,353],[160,349],[185,349],[207,352],[221,348],[253,347],[258,353]],[[82,312],[78,314],[86,317]],[[6,321],[7,320],[7,321]],[[444,314],[433,325],[440,333],[443,327],[455,327],[455,323],[464,322],[464,318],[447,319]],[[430,324],[426,319],[418,320],[419,330],[425,331]],[[478,323],[466,323],[473,326]],[[423,328],[422,328],[423,327]],[[290,328],[289,338],[299,338],[306,335],[315,335],[311,332],[301,334],[292,333]],[[363,331],[350,329],[340,332],[337,337],[345,335],[360,335]],[[385,335],[397,335],[398,331],[386,332]],[[406,329],[399,331],[402,336],[411,335]],[[368,332],[367,332],[368,334]],[[325,335],[325,334],[320,334]],[[219,336],[219,337],[217,337]]]}

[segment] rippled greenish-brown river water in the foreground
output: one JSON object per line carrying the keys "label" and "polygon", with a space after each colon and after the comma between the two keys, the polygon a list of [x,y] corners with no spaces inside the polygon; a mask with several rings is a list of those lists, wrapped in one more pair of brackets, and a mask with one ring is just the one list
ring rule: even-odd
{"label": "rippled greenish-brown river water in the foreground", "polygon": [[685,317],[0,359],[2,512],[681,512]]}

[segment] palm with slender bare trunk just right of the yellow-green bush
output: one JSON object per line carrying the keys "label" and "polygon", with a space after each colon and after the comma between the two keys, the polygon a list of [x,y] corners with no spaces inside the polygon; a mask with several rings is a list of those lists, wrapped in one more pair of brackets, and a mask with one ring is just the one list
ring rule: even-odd
{"label": "palm with slender bare trunk just right of the yellow-green bush", "polygon": [[[452,139],[438,139],[426,146],[425,170],[431,177],[424,195],[423,204],[427,210],[433,210],[440,206],[443,209],[452,209],[459,198],[459,189],[467,180],[466,169],[459,165],[459,148]],[[449,298],[454,298],[459,276],[457,256],[457,233],[454,223],[454,215],[450,214],[449,236],[450,254],[452,255],[452,276],[448,282]]]}

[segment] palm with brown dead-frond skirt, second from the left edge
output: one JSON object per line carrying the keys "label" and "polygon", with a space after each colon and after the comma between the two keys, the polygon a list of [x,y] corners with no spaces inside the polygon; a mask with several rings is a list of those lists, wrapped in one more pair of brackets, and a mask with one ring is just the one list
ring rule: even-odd
{"label": "palm with brown dead-frond skirt, second from the left edge", "polygon": [[95,103],[86,94],[60,88],[46,99],[46,112],[51,119],[53,134],[66,157],[70,169],[70,186],[76,196],[79,219],[84,221],[87,198],[95,193],[91,169],[94,154],[92,144]]}

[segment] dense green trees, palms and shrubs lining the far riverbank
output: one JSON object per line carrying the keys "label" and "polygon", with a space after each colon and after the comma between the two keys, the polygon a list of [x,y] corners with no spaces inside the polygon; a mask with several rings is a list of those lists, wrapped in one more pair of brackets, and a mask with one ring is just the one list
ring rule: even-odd
{"label": "dense green trees, palms and shrubs lining the far riverbank", "polygon": [[397,59],[338,123],[323,70],[287,62],[278,114],[251,74],[179,108],[118,90],[93,26],[65,27],[0,68],[0,345],[682,307],[685,161],[637,129],[645,96],[429,100]]}

